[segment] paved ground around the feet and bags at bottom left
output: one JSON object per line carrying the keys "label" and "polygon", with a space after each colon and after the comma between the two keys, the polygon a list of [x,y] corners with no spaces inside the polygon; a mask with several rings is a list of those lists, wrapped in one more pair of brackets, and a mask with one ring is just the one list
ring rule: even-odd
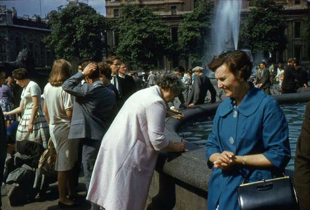
{"label": "paved ground around the feet and bags at bottom left", "polygon": [[[58,206],[58,182],[49,185],[47,195],[42,199],[34,200],[19,207],[11,207],[7,195],[1,196],[2,210],[60,210]],[[3,192],[3,189],[2,189]],[[83,177],[79,178],[78,193],[86,196],[85,184]],[[2,194],[2,193],[1,193]],[[65,210],[63,208],[62,210]],[[90,210],[91,204],[89,201],[83,201],[78,206],[70,208],[70,210]]]}

